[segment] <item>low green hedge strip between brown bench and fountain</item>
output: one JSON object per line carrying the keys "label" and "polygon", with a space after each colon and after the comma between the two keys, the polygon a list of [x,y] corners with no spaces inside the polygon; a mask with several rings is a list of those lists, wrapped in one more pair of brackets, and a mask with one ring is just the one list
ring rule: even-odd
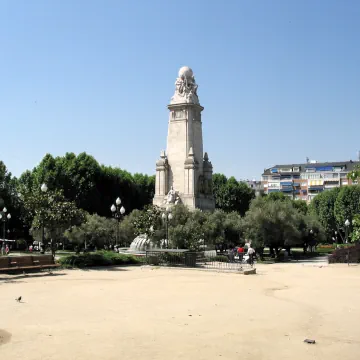
{"label": "low green hedge strip between brown bench and fountain", "polygon": [[140,265],[143,261],[134,255],[117,254],[111,251],[97,251],[95,253],[65,256],[59,259],[59,263],[66,268],[86,268],[96,266]]}

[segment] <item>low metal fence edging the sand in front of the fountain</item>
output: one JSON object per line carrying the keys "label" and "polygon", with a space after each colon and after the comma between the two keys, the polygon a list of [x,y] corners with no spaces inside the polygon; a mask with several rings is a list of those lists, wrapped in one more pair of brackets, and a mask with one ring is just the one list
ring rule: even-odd
{"label": "low metal fence edging the sand in front of the fountain", "polygon": [[249,258],[231,255],[209,255],[205,252],[188,250],[149,250],[146,251],[146,263],[155,266],[200,268],[216,271],[241,272],[255,267]]}

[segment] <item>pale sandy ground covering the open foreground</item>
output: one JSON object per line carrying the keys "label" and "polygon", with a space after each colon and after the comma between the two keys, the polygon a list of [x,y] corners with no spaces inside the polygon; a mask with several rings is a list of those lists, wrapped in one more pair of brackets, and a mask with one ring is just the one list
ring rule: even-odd
{"label": "pale sandy ground covering the open foreground", "polygon": [[[118,268],[0,278],[0,359],[360,354],[360,266],[262,265],[249,276]],[[15,301],[20,295],[22,303]]]}

